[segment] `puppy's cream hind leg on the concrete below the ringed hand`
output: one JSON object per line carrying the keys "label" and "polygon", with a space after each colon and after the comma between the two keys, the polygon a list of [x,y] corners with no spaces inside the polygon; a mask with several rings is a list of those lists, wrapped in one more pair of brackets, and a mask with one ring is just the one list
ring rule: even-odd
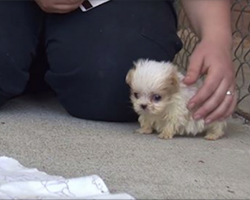
{"label": "puppy's cream hind leg on the concrete below the ringed hand", "polygon": [[225,132],[226,122],[214,122],[210,124],[207,128],[205,139],[207,140],[217,140],[221,138]]}

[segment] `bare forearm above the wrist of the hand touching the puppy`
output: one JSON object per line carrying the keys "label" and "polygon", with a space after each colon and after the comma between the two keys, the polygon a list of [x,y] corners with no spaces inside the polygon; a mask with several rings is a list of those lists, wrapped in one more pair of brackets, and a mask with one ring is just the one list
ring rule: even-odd
{"label": "bare forearm above the wrist of the hand touching the puppy", "polygon": [[182,0],[192,28],[201,40],[232,45],[230,0]]}

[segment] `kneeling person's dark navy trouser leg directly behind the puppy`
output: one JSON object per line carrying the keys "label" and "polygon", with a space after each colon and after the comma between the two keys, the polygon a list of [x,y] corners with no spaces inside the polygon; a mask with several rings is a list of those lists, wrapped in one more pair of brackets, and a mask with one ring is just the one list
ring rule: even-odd
{"label": "kneeling person's dark navy trouser leg directly behind the puppy", "polygon": [[172,60],[181,48],[166,1],[111,1],[86,13],[48,15],[46,80],[73,116],[134,121],[125,76],[139,58]]}

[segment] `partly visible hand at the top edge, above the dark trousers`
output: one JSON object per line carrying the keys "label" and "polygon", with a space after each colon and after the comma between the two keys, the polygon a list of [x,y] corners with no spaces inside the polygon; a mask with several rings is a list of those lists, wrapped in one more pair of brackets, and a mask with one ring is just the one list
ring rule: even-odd
{"label": "partly visible hand at the top edge, above the dark trousers", "polygon": [[84,0],[35,0],[39,7],[47,13],[69,13],[76,10]]}

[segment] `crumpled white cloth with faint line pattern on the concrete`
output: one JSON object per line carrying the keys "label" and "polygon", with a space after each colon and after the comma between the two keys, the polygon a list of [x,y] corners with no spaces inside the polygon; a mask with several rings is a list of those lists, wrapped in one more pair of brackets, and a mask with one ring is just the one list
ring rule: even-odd
{"label": "crumpled white cloth with faint line pattern on the concrete", "polygon": [[0,199],[134,199],[111,194],[98,175],[65,179],[0,157]]}

